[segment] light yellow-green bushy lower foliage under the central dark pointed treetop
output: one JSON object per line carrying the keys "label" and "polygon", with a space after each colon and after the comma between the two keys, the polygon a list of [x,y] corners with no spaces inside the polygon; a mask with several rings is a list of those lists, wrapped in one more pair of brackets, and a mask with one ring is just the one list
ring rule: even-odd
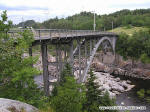
{"label": "light yellow-green bushy lower foliage under the central dark pointed treetop", "polygon": [[81,112],[84,93],[73,76],[65,76],[63,85],[57,87],[57,95],[52,97],[51,105],[56,112]]}

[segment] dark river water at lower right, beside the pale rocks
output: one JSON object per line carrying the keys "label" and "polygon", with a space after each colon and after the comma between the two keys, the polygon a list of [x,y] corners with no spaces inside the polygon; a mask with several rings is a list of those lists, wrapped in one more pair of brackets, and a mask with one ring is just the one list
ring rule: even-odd
{"label": "dark river water at lower right, beside the pale rocks", "polygon": [[[136,78],[129,78],[120,76],[123,80],[130,80],[135,87],[130,91],[123,92],[116,97],[116,104],[118,106],[146,106],[146,110],[132,110],[130,112],[150,112],[150,104],[137,97],[136,91],[140,88],[150,88],[150,80],[142,80]],[[124,112],[124,111],[120,111]]]}

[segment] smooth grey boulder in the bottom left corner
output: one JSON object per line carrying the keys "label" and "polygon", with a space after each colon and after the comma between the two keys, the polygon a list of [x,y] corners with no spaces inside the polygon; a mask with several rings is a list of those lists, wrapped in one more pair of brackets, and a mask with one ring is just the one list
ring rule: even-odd
{"label": "smooth grey boulder in the bottom left corner", "polygon": [[0,98],[0,112],[38,112],[38,109],[20,101]]}

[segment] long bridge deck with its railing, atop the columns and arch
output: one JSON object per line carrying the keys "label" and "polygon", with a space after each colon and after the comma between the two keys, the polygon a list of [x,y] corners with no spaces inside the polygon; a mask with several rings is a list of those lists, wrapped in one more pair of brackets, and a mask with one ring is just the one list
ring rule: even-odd
{"label": "long bridge deck with its railing, atop the columns and arch", "polygon": [[[24,29],[11,30],[9,34],[11,36],[17,36],[18,32],[22,32]],[[82,37],[98,37],[98,36],[117,36],[112,32],[104,31],[92,31],[92,30],[63,30],[63,29],[31,29],[36,41],[38,40],[55,40],[55,39],[68,39],[68,38],[82,38]]]}

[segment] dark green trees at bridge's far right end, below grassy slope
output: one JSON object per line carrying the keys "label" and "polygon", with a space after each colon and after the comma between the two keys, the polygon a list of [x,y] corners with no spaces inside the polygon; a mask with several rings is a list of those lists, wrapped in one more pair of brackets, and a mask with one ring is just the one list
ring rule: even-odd
{"label": "dark green trees at bridge's far right end, below grassy slope", "polygon": [[116,51],[124,59],[141,60],[150,63],[150,33],[148,31],[135,32],[132,36],[120,34]]}

